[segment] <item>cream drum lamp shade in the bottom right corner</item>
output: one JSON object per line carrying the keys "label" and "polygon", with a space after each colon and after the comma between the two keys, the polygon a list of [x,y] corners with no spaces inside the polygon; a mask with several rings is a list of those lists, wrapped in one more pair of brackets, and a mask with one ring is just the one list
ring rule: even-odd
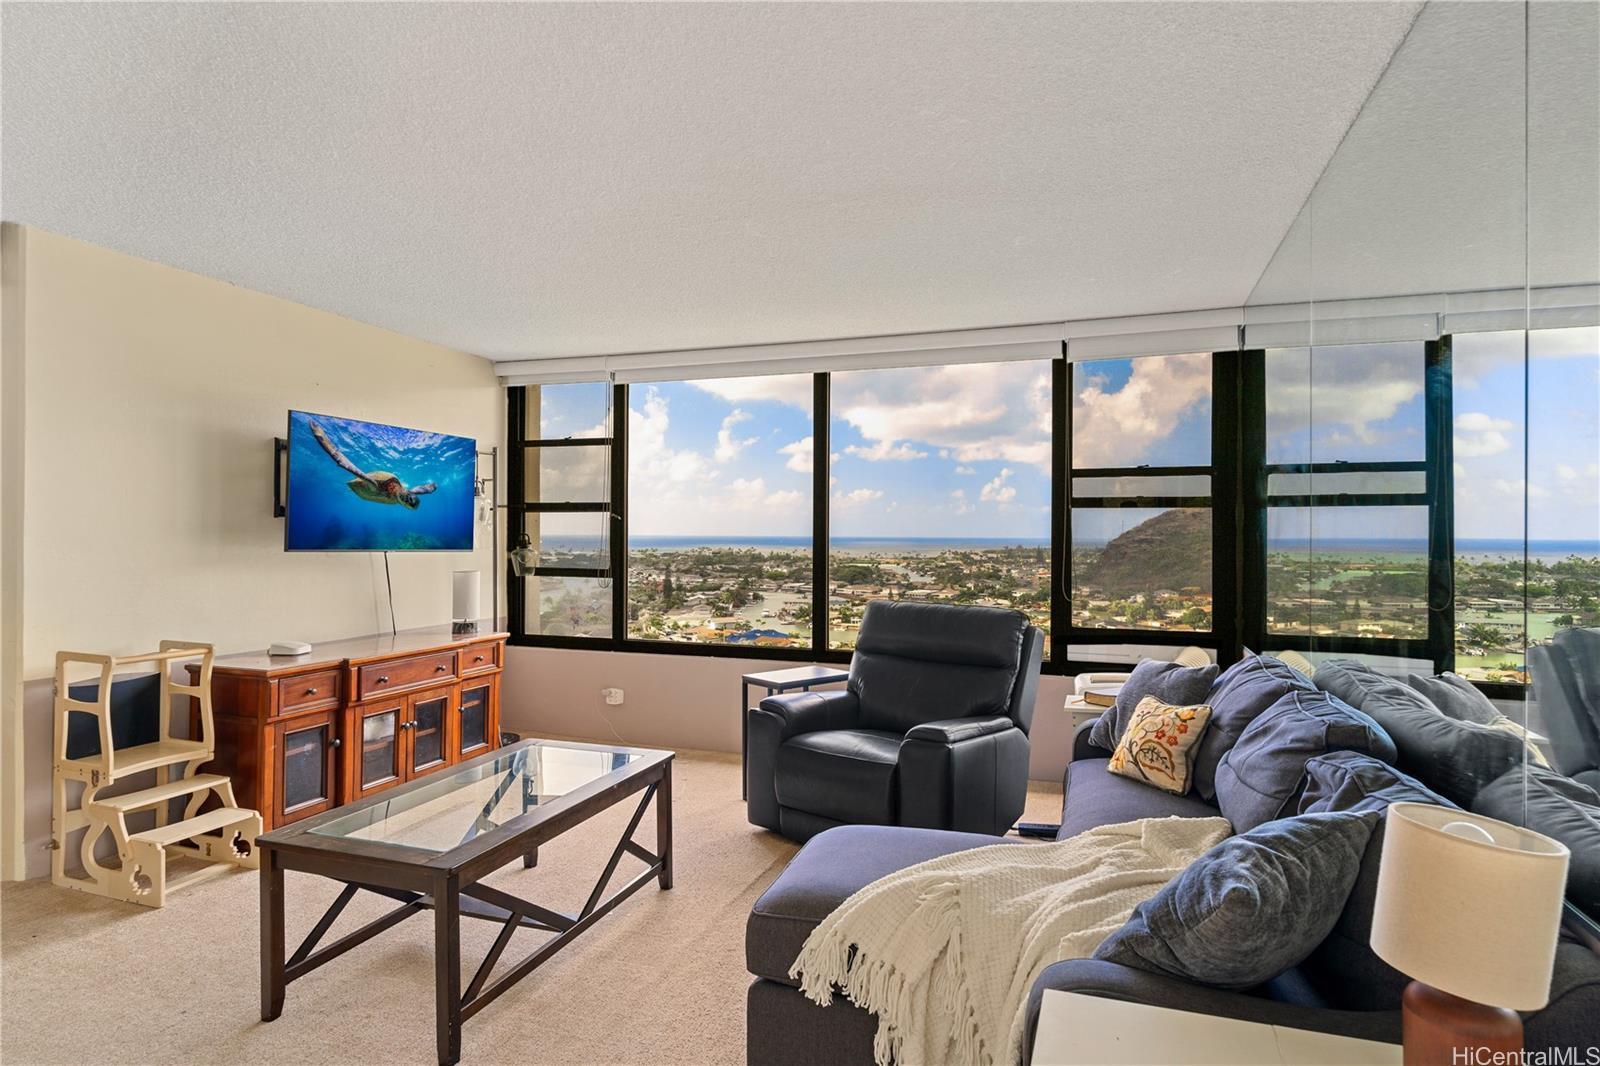
{"label": "cream drum lamp shade in the bottom right corner", "polygon": [[1394,804],[1384,823],[1373,951],[1475,1004],[1539,1010],[1562,925],[1568,850],[1504,821]]}

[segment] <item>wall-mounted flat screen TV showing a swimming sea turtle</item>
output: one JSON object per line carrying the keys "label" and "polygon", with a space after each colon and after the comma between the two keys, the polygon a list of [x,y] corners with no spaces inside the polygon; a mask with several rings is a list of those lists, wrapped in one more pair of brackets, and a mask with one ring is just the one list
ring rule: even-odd
{"label": "wall-mounted flat screen TV showing a swimming sea turtle", "polygon": [[283,547],[472,551],[477,442],[290,411]]}

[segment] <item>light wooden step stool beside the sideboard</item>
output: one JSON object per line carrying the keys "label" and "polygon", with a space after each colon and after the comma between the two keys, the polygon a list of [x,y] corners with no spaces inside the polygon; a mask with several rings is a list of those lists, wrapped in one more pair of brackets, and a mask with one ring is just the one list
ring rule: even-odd
{"label": "light wooden step stool beside the sideboard", "polygon": [[[200,659],[200,674],[194,685],[173,682],[173,663]],[[141,903],[158,908],[166,903],[166,892],[226,871],[230,866],[254,869],[261,864],[256,855],[256,836],[261,832],[261,815],[238,807],[234,800],[234,783],[218,773],[198,773],[214,754],[214,730],[211,722],[211,645],[163,640],[160,651],[147,655],[88,655],[61,651],[56,655],[56,771],[51,810],[51,860],[50,877],[62,888],[93,892],[94,895]],[[112,680],[118,667],[155,666],[160,672],[160,728],[149,744],[117,749],[112,744]],[[99,672],[99,688],[93,701],[70,696],[69,674],[85,666]],[[198,706],[200,736],[181,739],[171,735],[173,696],[190,696]],[[99,725],[99,754],[67,757],[67,722],[72,714],[93,714]],[[179,776],[173,770],[181,768]],[[155,784],[133,792],[106,795],[118,781],[136,773],[155,771]],[[67,787],[82,783],[75,808],[67,807]],[[168,821],[173,800],[189,797],[184,816]],[[200,808],[210,797],[221,807],[205,813]],[[128,832],[128,815],[155,812],[155,828]],[[80,858],[83,876],[66,869],[67,834],[83,829]],[[120,866],[102,866],[96,847],[102,836],[110,834],[117,845]],[[166,856],[189,855],[211,863],[176,880],[166,879]]]}

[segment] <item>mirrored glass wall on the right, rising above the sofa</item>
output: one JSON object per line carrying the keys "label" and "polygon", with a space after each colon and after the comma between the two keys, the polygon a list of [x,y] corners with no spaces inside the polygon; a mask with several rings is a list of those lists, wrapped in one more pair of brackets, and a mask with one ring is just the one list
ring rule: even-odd
{"label": "mirrored glass wall on the right, rising above the sofa", "polygon": [[[1262,647],[1469,679],[1522,746],[1464,805],[1579,850],[1571,826],[1600,824],[1597,13],[1426,5],[1245,314]],[[1590,936],[1594,882],[1568,884]]]}

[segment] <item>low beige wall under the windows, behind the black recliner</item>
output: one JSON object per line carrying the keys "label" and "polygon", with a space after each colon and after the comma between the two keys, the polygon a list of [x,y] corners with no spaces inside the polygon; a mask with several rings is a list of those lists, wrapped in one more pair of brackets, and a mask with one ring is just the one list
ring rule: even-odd
{"label": "low beige wall under the windows, behind the black recliner", "polygon": [[[739,677],[786,666],[794,663],[509,648],[501,717],[518,733],[739,751]],[[1072,727],[1061,707],[1070,687],[1069,677],[1038,682],[1030,775],[1040,781],[1059,783],[1070,755]],[[622,706],[605,706],[602,688],[621,688]]]}

